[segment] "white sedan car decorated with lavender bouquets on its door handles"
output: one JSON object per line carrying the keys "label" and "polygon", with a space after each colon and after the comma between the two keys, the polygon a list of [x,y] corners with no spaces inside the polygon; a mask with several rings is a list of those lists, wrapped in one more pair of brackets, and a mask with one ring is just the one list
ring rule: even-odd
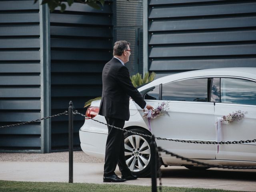
{"label": "white sedan car decorated with lavender bouquets on its door handles", "polygon": [[[240,141],[256,139],[256,68],[216,68],[195,70],[158,78],[140,88],[147,104],[156,108],[169,103],[168,115],[150,120],[130,100],[130,120],[124,128],[155,137],[190,141]],[[86,115],[106,123],[98,115],[100,100],[92,102]],[[245,113],[240,121],[229,124],[218,119],[232,112]],[[217,130],[218,128],[218,130]],[[221,129],[220,129],[221,128]],[[85,119],[79,136],[82,150],[89,156],[104,158],[108,128]],[[147,137],[124,133],[126,164],[138,176],[150,173],[150,146]],[[256,166],[256,143],[191,144],[156,140],[163,149],[214,165]],[[162,164],[206,169],[161,153]]]}

